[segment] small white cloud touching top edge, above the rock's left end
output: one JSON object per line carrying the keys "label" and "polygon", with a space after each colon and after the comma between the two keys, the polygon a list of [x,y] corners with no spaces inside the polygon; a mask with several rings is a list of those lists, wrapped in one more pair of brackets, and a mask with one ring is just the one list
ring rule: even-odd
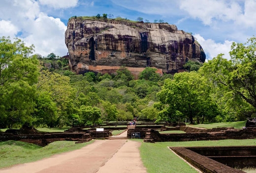
{"label": "small white cloud touching top edge, above the rock's left end", "polygon": [[70,8],[77,5],[78,0],[39,0],[40,4],[59,8]]}

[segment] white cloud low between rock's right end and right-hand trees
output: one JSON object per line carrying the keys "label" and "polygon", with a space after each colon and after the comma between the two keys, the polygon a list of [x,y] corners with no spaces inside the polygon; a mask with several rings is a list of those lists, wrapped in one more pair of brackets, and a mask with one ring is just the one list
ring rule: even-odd
{"label": "white cloud low between rock's right end and right-hand trees", "polygon": [[216,43],[212,39],[205,40],[200,34],[195,34],[194,37],[204,49],[207,59],[212,59],[220,53],[224,53],[224,58],[230,59],[229,51],[234,41],[225,40],[224,43]]}

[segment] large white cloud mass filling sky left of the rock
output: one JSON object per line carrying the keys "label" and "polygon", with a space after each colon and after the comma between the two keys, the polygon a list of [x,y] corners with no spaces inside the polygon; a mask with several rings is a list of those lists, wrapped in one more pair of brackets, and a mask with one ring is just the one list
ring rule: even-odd
{"label": "large white cloud mass filling sky left of the rock", "polygon": [[51,52],[59,56],[65,55],[65,30],[66,26],[59,18],[40,12],[35,0],[1,1],[0,36],[18,36],[27,46],[35,46],[34,53],[42,56]]}

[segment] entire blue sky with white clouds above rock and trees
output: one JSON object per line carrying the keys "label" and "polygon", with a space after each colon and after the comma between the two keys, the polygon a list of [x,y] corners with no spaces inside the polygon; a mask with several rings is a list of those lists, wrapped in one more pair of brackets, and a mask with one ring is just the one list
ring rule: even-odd
{"label": "entire blue sky with white clouds above rock and trees", "polygon": [[207,60],[220,53],[230,59],[233,42],[256,35],[256,0],[0,0],[0,37],[20,38],[42,56],[64,56],[68,19],[103,13],[177,25],[192,33]]}

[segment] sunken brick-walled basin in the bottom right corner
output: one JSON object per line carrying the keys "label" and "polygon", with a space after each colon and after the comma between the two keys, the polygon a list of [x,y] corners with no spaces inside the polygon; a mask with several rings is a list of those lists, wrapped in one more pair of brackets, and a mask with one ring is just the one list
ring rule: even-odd
{"label": "sunken brick-walled basin in the bottom right corner", "polygon": [[[255,168],[256,146],[170,148],[175,152],[182,153],[181,155],[184,155],[186,160],[188,158],[192,159],[191,155],[193,155],[192,162],[203,164],[207,168],[215,165],[215,162],[212,161],[213,164],[210,162],[210,165],[208,165],[209,163],[205,164],[204,161],[200,162],[200,160],[206,160],[205,157],[235,169]],[[218,170],[217,167],[216,169]]]}

